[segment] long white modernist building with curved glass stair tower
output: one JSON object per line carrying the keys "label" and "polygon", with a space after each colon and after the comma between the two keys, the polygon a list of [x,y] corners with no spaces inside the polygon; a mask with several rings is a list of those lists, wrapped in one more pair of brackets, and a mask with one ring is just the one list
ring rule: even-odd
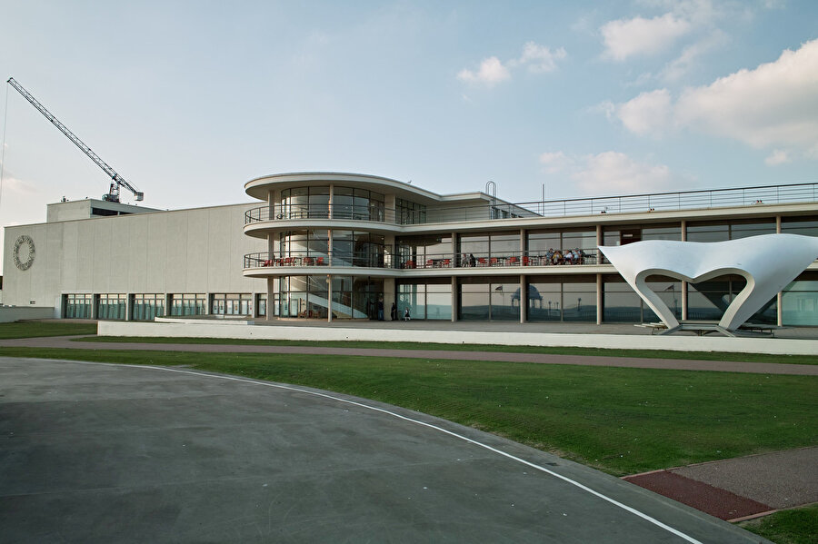
{"label": "long white modernist building with curved glass stair tower", "polygon": [[[46,223],[5,228],[4,303],[118,320],[389,320],[394,304],[400,319],[408,309],[424,320],[658,321],[600,245],[818,236],[818,183],[513,204],[371,175],[285,173],[245,191],[260,202],[51,204]],[[677,319],[709,321],[744,281],[647,278]],[[751,321],[818,325],[818,262]]]}

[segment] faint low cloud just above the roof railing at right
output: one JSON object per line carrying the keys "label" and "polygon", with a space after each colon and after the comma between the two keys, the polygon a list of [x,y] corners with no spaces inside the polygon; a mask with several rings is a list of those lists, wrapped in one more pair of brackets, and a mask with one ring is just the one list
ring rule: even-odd
{"label": "faint low cloud just above the roof railing at right", "polygon": [[673,185],[667,166],[640,163],[615,151],[584,157],[583,168],[571,177],[586,194],[653,193]]}

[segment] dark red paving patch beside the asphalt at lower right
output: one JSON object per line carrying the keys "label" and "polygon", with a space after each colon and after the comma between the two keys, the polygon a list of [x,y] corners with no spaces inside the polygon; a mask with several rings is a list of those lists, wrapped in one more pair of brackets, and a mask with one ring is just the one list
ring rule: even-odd
{"label": "dark red paving patch beside the asphalt at lower right", "polygon": [[669,470],[626,476],[623,480],[669,499],[678,500],[719,519],[745,518],[773,509],[761,502],[740,497],[735,493],[715,488],[701,481],[685,478]]}

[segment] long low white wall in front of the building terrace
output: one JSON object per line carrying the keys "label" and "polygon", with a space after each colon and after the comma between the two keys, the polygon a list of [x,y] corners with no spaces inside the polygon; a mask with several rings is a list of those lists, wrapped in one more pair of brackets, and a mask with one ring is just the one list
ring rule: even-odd
{"label": "long low white wall in front of the building terrace", "polygon": [[164,336],[306,341],[418,341],[434,343],[499,344],[671,351],[731,351],[773,355],[818,355],[818,341],[778,338],[704,336],[648,336],[627,334],[559,334],[492,331],[417,331],[341,327],[275,327],[227,322],[99,321],[100,336]]}

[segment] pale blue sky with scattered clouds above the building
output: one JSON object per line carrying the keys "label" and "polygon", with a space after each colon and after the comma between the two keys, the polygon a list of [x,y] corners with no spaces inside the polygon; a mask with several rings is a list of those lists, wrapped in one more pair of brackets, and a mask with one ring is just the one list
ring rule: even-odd
{"label": "pale blue sky with scattered clouds above the building", "polygon": [[[818,180],[815,0],[0,0],[0,75],[159,209],[285,172],[515,203]],[[107,193],[3,86],[0,226]]]}

